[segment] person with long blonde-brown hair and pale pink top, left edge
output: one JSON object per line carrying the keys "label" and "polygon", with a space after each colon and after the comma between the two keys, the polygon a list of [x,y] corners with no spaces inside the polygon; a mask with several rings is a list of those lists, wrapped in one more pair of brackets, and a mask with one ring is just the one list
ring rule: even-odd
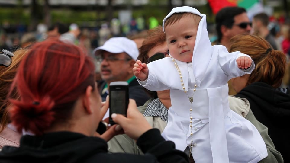
{"label": "person with long blonde-brown hair and pale pink top, left edge", "polygon": [[[29,49],[16,50],[11,65],[8,67],[0,66],[0,149],[6,145],[19,146],[21,133],[18,133],[13,125],[8,124],[10,122],[8,115],[10,103],[6,97],[17,73],[19,63],[28,52]],[[13,91],[11,97],[18,99],[17,91]]]}

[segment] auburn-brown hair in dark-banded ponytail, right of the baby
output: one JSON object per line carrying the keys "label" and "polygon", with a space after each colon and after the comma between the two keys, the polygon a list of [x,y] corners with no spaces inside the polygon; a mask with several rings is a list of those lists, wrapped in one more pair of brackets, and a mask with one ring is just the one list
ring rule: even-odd
{"label": "auburn-brown hair in dark-banded ponytail, right of the baby", "polygon": [[248,54],[256,68],[250,74],[246,85],[264,82],[278,88],[286,69],[286,56],[282,51],[273,50],[263,38],[254,35],[237,35],[231,39],[230,52],[240,51]]}

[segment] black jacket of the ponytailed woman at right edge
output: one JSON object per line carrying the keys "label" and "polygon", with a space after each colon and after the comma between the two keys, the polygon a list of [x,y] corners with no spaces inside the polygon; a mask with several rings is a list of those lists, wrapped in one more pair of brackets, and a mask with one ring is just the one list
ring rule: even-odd
{"label": "black jacket of the ponytailed woman at right edge", "polygon": [[236,96],[249,100],[254,116],[268,127],[269,136],[284,162],[290,162],[290,88],[282,92],[266,83],[255,82]]}

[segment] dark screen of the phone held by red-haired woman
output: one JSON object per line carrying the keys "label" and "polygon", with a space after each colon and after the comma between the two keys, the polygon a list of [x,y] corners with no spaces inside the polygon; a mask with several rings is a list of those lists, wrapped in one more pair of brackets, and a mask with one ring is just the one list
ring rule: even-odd
{"label": "dark screen of the phone held by red-haired woman", "polygon": [[111,113],[126,115],[126,91],[111,91]]}

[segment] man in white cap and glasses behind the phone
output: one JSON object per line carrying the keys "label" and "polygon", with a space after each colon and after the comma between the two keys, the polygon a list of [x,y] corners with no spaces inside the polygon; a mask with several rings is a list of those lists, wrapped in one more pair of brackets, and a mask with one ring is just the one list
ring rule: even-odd
{"label": "man in white cap and glasses behind the phone", "polygon": [[129,98],[136,101],[137,106],[142,106],[149,96],[137,82],[132,73],[132,68],[139,55],[136,43],[126,37],[112,37],[103,46],[93,52],[101,63],[101,97],[106,100],[108,85],[115,81],[127,81],[129,84]]}

